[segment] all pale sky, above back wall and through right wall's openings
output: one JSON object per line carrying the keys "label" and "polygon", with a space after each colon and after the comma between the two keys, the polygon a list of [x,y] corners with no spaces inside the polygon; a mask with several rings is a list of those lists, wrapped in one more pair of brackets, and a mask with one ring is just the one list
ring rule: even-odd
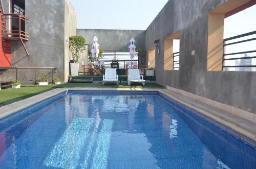
{"label": "all pale sky, above back wall and through right wall's openings", "polygon": [[[168,0],[70,0],[70,2],[77,11],[78,29],[146,30]],[[224,38],[255,31],[255,16],[256,5],[226,18]],[[252,37],[256,37],[256,35]],[[242,39],[236,39],[236,41]],[[179,41],[174,43],[174,52],[178,52]],[[255,50],[255,46],[256,40],[230,45],[226,47],[226,53]],[[256,53],[251,53],[249,56],[256,56]],[[229,57],[243,57],[243,55]],[[253,59],[252,62],[253,65],[256,65],[256,59]],[[235,61],[226,62],[226,65],[234,64]]]}

